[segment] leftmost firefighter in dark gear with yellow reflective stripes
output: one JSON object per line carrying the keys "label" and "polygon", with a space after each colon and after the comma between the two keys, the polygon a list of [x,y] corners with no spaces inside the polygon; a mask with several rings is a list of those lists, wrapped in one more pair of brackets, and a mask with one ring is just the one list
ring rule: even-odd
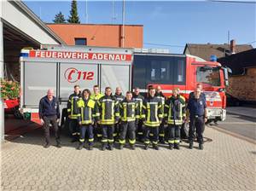
{"label": "leftmost firefighter in dark gear with yellow reflective stripes", "polygon": [[79,141],[79,107],[78,101],[81,98],[81,91],[80,86],[75,85],[73,87],[74,92],[72,95],[69,96],[67,101],[67,114],[68,114],[68,126],[73,139],[71,142],[78,142]]}

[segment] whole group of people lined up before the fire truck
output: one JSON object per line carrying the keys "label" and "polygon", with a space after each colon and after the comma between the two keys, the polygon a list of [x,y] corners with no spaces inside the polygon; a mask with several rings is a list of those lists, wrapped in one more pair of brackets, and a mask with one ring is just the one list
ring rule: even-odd
{"label": "whole group of people lined up before the fire truck", "polygon": [[[134,92],[127,91],[125,96],[117,87],[112,94],[106,87],[105,94],[99,91],[99,86],[93,87],[93,93],[85,89],[81,92],[79,85],[74,86],[74,92],[67,103],[67,122],[72,142],[79,142],[77,149],[93,149],[96,137],[102,142],[102,150],[113,150],[113,143],[119,143],[119,149],[125,146],[126,138],[135,149],[136,138],[144,143],[148,150],[150,142],[155,150],[159,150],[158,142],[168,143],[169,148],[180,149],[181,126],[189,122],[189,148],[193,148],[196,130],[199,149],[203,149],[204,124],[207,121],[206,97],[201,93],[201,84],[190,93],[186,104],[185,98],[179,94],[179,89],[172,90],[172,96],[166,98],[160,86],[148,88],[148,96],[140,95],[139,88]],[[55,130],[57,147],[61,148],[57,123],[60,119],[59,104],[53,90],[48,90],[39,104],[39,116],[44,124],[45,144],[49,148],[49,124]],[[166,125],[167,124],[167,127]],[[87,136],[85,136],[87,133]],[[85,138],[86,137],[86,138]]]}

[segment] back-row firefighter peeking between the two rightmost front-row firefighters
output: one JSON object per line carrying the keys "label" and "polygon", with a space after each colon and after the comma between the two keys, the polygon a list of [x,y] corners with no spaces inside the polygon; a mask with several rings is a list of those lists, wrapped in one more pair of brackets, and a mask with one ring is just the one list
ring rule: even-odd
{"label": "back-row firefighter peeking between the two rightmost front-row firefighters", "polygon": [[[154,96],[161,101],[162,113],[164,113],[166,97],[161,92],[160,85],[158,85],[156,87],[156,91],[155,91],[155,95]],[[165,143],[165,129],[166,129],[165,128],[165,120],[162,120],[162,122],[160,123],[160,127],[159,127],[159,139],[160,139],[161,143]]]}

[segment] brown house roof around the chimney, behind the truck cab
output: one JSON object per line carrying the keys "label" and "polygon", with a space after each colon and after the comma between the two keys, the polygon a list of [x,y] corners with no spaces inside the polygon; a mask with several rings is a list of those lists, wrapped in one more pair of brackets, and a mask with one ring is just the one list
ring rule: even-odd
{"label": "brown house roof around the chimney, behind the truck cab", "polygon": [[[237,44],[236,53],[253,49],[252,45],[248,44]],[[224,55],[231,55],[230,44],[200,44],[200,43],[186,43],[183,54],[196,55],[206,61],[210,61],[211,55],[216,55],[218,58]]]}

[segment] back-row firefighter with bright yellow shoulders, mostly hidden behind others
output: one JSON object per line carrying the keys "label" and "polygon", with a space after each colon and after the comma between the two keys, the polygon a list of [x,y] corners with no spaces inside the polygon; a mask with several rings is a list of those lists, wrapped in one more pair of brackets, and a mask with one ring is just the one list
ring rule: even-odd
{"label": "back-row firefighter with bright yellow shoulders, mostly hidden behind others", "polygon": [[[94,85],[93,86],[93,94],[90,95],[90,98],[94,101],[97,101],[104,96],[101,92],[100,92],[100,88],[98,85]],[[93,124],[93,131],[94,131],[94,135],[96,135],[96,139],[100,140],[102,138],[102,128],[100,127],[100,125],[98,125],[97,123]]]}

